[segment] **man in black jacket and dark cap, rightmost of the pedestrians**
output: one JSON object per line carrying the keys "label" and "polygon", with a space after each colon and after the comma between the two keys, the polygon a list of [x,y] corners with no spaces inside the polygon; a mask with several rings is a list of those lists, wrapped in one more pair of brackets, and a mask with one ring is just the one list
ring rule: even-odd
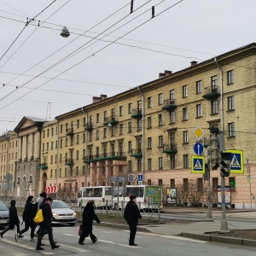
{"label": "man in black jacket and dark cap, rightmost of the pedestrians", "polygon": [[130,201],[127,203],[125,207],[125,220],[130,227],[130,238],[129,238],[129,245],[131,247],[136,247],[137,244],[134,243],[136,232],[137,232],[137,224],[138,219],[142,218],[142,215],[137,207],[137,196],[131,195]]}

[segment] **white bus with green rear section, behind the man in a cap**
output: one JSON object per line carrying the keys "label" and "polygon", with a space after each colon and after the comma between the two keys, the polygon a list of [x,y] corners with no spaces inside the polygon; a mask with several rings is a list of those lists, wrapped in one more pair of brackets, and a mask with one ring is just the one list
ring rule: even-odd
{"label": "white bus with green rear section, behind the man in a cap", "polygon": [[125,186],[125,195],[119,193],[119,199],[113,197],[113,207],[117,209],[119,201],[119,208],[122,207],[122,202],[125,205],[130,201],[130,195],[137,196],[138,206],[145,209],[157,210],[158,205],[160,209],[163,208],[163,188],[161,186],[152,186],[152,185],[126,185]]}

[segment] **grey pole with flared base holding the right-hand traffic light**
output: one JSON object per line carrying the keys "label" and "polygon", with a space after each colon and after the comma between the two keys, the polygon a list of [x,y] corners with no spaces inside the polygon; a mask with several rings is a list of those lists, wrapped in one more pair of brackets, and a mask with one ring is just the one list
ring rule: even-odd
{"label": "grey pole with flared base holding the right-hand traffic light", "polygon": [[[224,151],[224,134],[223,131],[219,133],[219,149]],[[226,201],[225,201],[225,177],[221,176],[221,210],[222,210],[222,220],[221,229],[218,233],[230,233],[228,228],[228,222],[226,220]]]}

